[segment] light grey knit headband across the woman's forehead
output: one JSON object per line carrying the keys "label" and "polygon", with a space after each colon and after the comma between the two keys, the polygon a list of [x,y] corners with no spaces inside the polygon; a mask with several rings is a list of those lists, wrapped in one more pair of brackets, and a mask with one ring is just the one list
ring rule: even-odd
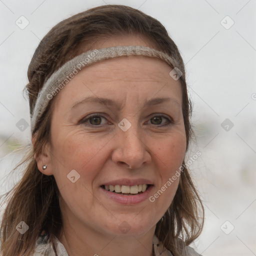
{"label": "light grey knit headband across the woman's forehead", "polygon": [[33,132],[36,122],[41,118],[50,99],[55,96],[83,67],[100,60],[117,56],[143,55],[157,57],[167,62],[172,67],[176,67],[176,61],[167,54],[145,46],[114,46],[108,48],[94,49],[81,53],[64,63],[56,70],[43,84],[37,95],[34,110],[30,115],[31,132]]}

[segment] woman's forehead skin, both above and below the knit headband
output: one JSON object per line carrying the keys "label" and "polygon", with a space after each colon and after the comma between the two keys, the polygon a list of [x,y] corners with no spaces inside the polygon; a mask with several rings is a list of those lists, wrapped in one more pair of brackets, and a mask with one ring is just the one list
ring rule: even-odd
{"label": "woman's forehead skin, both above and below the knit headband", "polygon": [[[77,53],[80,54],[92,48],[118,45],[141,45],[156,48],[155,43],[144,35],[118,34],[97,39],[89,46],[81,42],[77,47]],[[170,77],[170,70],[172,67],[155,57],[118,56],[83,68],[60,91],[57,98],[65,97],[72,103],[71,101],[77,101],[79,97],[88,95],[120,98],[120,94],[129,93],[149,99],[157,93],[156,96],[176,94],[176,99],[178,98],[181,103],[180,81],[175,81]]]}

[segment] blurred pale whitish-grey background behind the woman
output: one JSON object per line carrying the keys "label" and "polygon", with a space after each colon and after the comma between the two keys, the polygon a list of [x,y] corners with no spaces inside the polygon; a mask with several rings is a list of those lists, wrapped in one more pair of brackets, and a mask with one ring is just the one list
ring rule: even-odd
{"label": "blurred pale whitish-grey background behind the woman", "polygon": [[102,4],[158,19],[177,44],[193,103],[195,141],[187,157],[205,207],[192,244],[204,256],[256,255],[256,0],[0,0],[0,193],[30,141],[22,90],[40,39],[59,21]]}

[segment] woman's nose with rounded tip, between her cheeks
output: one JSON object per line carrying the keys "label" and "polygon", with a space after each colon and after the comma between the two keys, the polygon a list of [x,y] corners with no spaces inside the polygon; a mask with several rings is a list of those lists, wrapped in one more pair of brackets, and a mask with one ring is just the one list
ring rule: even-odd
{"label": "woman's nose with rounded tip, between her cheeks", "polygon": [[118,130],[112,153],[112,161],[117,165],[125,165],[133,169],[140,168],[151,161],[145,137],[138,129],[136,125],[131,125],[126,131]]}

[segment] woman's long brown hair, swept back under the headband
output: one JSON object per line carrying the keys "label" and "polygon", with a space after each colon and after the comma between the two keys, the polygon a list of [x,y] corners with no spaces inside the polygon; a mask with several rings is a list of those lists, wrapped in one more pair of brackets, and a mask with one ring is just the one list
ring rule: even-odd
{"label": "woman's long brown hair, swept back under the headband", "polygon": [[[176,44],[165,27],[155,18],[124,5],[103,5],[75,14],[56,24],[43,37],[28,67],[29,83],[25,91],[33,112],[39,90],[47,78],[66,61],[78,55],[79,45],[92,48],[93,42],[106,36],[138,35],[146,38],[155,49],[165,52],[177,62],[182,71],[179,78],[182,90],[182,114],[186,133],[186,151],[191,139],[191,103],[188,99],[184,63]],[[53,100],[53,99],[52,99]],[[23,161],[22,178],[4,196],[8,199],[1,222],[1,249],[4,256],[30,255],[42,229],[57,236],[62,227],[58,203],[58,187],[53,175],[45,175],[37,168],[34,155],[39,155],[50,141],[52,100],[37,121],[32,136],[34,143]],[[184,160],[183,160],[184,163]],[[204,219],[202,201],[191,181],[186,167],[180,173],[174,198],[163,220],[156,224],[155,235],[175,256],[201,233]],[[16,225],[23,220],[29,232],[20,234]]]}

